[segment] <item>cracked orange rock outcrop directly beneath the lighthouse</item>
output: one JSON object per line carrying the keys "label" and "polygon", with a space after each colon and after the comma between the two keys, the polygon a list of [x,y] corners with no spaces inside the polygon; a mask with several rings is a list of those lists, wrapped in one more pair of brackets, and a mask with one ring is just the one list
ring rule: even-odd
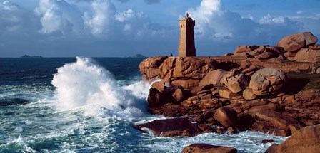
{"label": "cracked orange rock outcrop directly beneath the lighthouse", "polygon": [[195,57],[151,57],[139,65],[144,80],[151,82],[156,78],[167,83],[181,85],[188,90],[199,85],[199,81],[214,70],[216,60]]}

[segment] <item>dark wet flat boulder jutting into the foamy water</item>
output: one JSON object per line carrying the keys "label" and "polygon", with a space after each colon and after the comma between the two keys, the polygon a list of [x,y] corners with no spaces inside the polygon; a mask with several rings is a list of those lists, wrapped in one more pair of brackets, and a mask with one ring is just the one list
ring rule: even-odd
{"label": "dark wet flat boulder jutting into the foamy water", "polygon": [[186,118],[174,118],[166,120],[154,120],[152,122],[136,125],[136,129],[146,132],[145,128],[151,130],[158,137],[192,137],[199,132],[199,128]]}

